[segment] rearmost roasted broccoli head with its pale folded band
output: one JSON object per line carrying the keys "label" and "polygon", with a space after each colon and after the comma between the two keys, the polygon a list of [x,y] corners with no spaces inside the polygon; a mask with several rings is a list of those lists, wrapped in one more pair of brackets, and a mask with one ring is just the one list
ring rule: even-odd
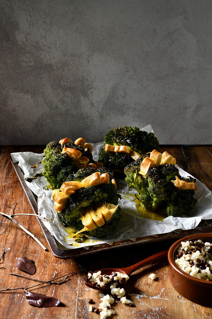
{"label": "rearmost roasted broccoli head with its pale folded band", "polygon": [[[107,145],[110,145],[110,148],[107,148]],[[121,145],[126,148],[114,150],[114,146]],[[99,152],[99,161],[105,167],[109,167],[110,171],[123,171],[125,166],[135,160],[133,155],[138,158],[153,149],[159,150],[159,142],[153,133],[141,131],[138,127],[118,127],[105,135],[103,148]]]}

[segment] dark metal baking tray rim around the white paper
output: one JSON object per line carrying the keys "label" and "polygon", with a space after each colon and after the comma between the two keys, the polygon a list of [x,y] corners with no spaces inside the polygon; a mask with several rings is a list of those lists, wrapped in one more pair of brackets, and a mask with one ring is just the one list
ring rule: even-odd
{"label": "dark metal baking tray rim around the white paper", "polygon": [[[32,207],[32,210],[36,215],[38,215],[38,204],[37,204],[37,198],[36,195],[33,194],[31,189],[28,188],[26,185],[25,179],[24,179],[24,174],[22,169],[18,166],[18,162],[13,163],[13,160],[11,159],[11,163],[16,171],[16,174],[18,175],[18,179],[21,183],[21,186],[23,187],[25,194],[30,202],[30,205]],[[177,229],[171,233],[166,233],[166,234],[155,234],[151,236],[145,236],[145,237],[138,237],[138,238],[133,238],[133,239],[128,239],[124,241],[113,241],[107,244],[98,244],[95,246],[86,246],[83,248],[76,248],[76,249],[60,249],[57,243],[57,240],[50,234],[48,229],[44,226],[44,224],[41,222],[39,218],[37,218],[38,223],[44,233],[44,236],[46,238],[46,241],[49,244],[49,248],[53,254],[53,256],[57,258],[62,258],[62,259],[67,259],[67,258],[72,258],[72,257],[77,257],[77,256],[84,256],[88,254],[94,254],[97,252],[102,252],[105,250],[109,249],[117,249],[117,248],[123,248],[123,247],[129,247],[129,246],[134,246],[134,245],[140,245],[144,243],[150,243],[154,241],[163,241],[167,239],[177,239],[180,237],[185,237],[187,235],[192,235],[196,233],[210,233],[212,232],[212,220],[202,220],[201,223],[199,224],[198,227],[195,229],[189,229],[189,230],[182,230],[182,229]]]}

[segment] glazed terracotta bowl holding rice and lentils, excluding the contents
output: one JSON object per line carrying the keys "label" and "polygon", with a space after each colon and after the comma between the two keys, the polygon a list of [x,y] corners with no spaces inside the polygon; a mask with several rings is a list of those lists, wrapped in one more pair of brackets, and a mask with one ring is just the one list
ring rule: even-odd
{"label": "glazed terracotta bowl holding rice and lentils, excluding the contents", "polygon": [[183,297],[196,302],[200,305],[212,307],[212,281],[195,278],[186,274],[176,265],[174,256],[178,248],[181,246],[181,241],[195,241],[201,239],[203,242],[212,243],[212,234],[194,234],[176,241],[168,251],[170,281],[174,289]]}

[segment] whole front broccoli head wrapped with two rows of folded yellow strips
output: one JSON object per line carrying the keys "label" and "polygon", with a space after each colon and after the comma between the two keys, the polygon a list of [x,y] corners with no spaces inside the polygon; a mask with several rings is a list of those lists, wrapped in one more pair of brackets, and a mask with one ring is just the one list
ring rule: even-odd
{"label": "whole front broccoli head wrapped with two rows of folded yellow strips", "polygon": [[107,172],[105,168],[82,168],[53,191],[54,207],[64,225],[98,238],[117,230],[119,195]]}

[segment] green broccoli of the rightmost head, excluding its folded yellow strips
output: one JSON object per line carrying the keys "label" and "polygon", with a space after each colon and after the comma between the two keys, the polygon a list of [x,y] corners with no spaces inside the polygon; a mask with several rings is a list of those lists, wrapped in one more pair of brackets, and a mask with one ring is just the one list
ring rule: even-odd
{"label": "green broccoli of the rightmost head, excluding its folded yellow strips", "polygon": [[[129,187],[138,192],[138,199],[147,209],[166,208],[168,215],[181,216],[192,207],[194,190],[178,189],[171,180],[180,179],[179,170],[173,164],[162,164],[148,169],[146,176],[139,174],[142,159],[137,159],[124,169]],[[189,180],[193,182],[193,180]],[[195,181],[194,181],[195,183]]]}

